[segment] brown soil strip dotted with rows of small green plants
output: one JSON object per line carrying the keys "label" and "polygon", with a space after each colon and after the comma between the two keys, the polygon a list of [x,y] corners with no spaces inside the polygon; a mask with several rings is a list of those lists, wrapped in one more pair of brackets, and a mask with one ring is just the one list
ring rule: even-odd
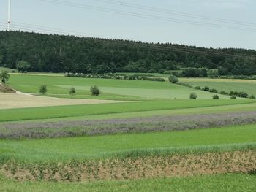
{"label": "brown soil strip dotted with rows of small green plants", "polygon": [[0,172],[20,181],[134,180],[154,177],[184,177],[200,174],[255,172],[256,151],[234,151],[187,155],[110,158],[69,163],[21,164],[9,161]]}

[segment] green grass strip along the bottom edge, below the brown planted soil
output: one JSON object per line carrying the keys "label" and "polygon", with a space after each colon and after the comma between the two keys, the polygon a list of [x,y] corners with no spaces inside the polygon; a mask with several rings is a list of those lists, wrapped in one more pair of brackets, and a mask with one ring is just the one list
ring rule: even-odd
{"label": "green grass strip along the bottom edge, below the brown planted soil", "polygon": [[159,178],[94,183],[18,182],[0,177],[0,191],[159,191],[159,192],[253,192],[256,176],[249,174],[216,174],[208,176]]}

